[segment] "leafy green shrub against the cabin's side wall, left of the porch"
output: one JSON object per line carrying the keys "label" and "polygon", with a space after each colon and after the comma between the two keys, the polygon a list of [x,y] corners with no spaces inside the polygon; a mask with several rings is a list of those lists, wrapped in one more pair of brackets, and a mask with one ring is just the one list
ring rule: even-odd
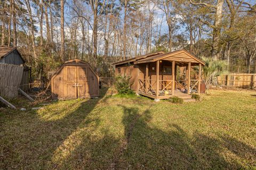
{"label": "leafy green shrub against the cabin's side wall, left of the porch", "polygon": [[114,86],[118,94],[133,94],[133,91],[130,88],[130,79],[131,77],[126,75],[117,75],[115,77]]}

